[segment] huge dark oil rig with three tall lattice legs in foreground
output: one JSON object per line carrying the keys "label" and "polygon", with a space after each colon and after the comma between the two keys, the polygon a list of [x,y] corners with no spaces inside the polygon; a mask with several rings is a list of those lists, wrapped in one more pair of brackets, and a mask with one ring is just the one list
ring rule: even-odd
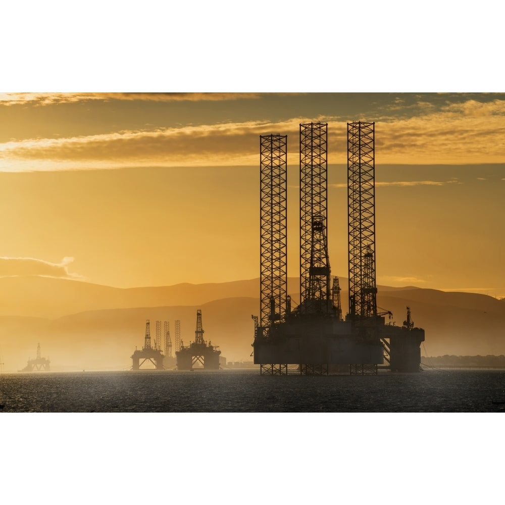
{"label": "huge dark oil rig with three tall lattice legs in foreground", "polygon": [[418,372],[424,330],[410,308],[402,327],[378,311],[375,280],[375,123],[347,123],[349,313],[327,247],[327,124],[300,124],[300,303],[287,294],[287,135],[260,136],[260,317],[254,363],[261,374],[379,368]]}

